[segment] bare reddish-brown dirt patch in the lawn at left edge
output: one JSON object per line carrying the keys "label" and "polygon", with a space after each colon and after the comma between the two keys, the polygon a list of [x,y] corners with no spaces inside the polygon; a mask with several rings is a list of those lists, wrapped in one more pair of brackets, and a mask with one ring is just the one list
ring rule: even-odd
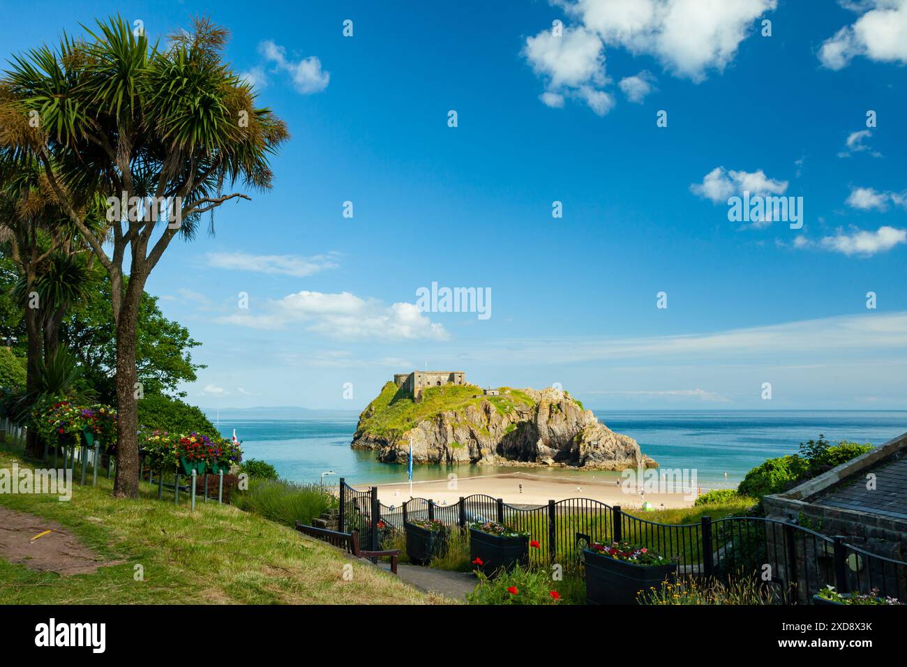
{"label": "bare reddish-brown dirt patch in the lawn at left edge", "polygon": [[[43,534],[45,531],[49,533]],[[40,537],[38,535],[41,535]],[[55,521],[0,507],[0,558],[30,570],[90,574],[105,561]]]}

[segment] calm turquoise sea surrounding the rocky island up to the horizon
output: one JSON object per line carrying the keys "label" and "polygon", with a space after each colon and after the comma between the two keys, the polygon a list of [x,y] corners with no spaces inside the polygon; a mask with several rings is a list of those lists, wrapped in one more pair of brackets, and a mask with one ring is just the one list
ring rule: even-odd
{"label": "calm turquoise sea surrounding the rocky island up to the horizon", "polygon": [[[907,431],[907,411],[644,411],[595,410],[611,430],[635,438],[645,454],[662,468],[696,468],[700,486],[736,486],[746,471],[773,456],[794,454],[799,443],[824,434],[832,441],[854,440],[881,445]],[[215,420],[218,415],[209,413]],[[332,470],[326,483],[343,476],[350,484],[404,482],[406,466],[375,461],[375,453],[350,449],[356,430],[355,412],[307,410],[290,413],[243,410],[221,411],[219,425],[225,436],[243,441],[247,458],[260,458],[280,476],[317,481]],[[496,466],[415,466],[415,479],[492,475],[513,472]],[[727,472],[727,479],[725,478]],[[542,476],[589,476],[593,473],[533,468]],[[594,473],[608,476],[606,473]],[[612,474],[619,476],[619,474]]]}

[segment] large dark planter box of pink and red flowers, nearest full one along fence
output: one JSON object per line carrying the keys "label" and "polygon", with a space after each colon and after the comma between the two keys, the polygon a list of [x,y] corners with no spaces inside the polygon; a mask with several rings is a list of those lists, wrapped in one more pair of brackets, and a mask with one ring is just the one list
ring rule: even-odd
{"label": "large dark planter box of pink and red flowers, nearest full one along fence", "polygon": [[637,565],[583,549],[586,565],[586,603],[638,604],[639,591],[661,588],[677,579],[677,564]]}

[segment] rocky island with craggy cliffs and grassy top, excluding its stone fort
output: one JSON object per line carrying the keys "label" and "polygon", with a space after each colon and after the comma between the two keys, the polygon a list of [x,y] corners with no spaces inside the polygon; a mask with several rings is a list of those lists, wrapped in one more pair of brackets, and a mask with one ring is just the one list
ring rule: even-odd
{"label": "rocky island with craggy cliffs and grassy top, excluding its stone fort", "polygon": [[[463,389],[472,392],[465,399]],[[590,470],[658,466],[639,451],[636,440],[614,433],[591,410],[557,389],[502,387],[500,397],[485,397],[479,387],[457,387],[450,400],[444,400],[444,387],[431,391],[430,400],[425,401],[429,405],[420,409],[420,404],[399,395],[388,401],[385,392],[394,394],[395,389],[385,386],[359,416],[352,446],[375,449],[379,461],[402,464],[412,439],[415,463],[512,463]],[[397,401],[408,404],[399,407]],[[395,419],[383,419],[390,415]]]}

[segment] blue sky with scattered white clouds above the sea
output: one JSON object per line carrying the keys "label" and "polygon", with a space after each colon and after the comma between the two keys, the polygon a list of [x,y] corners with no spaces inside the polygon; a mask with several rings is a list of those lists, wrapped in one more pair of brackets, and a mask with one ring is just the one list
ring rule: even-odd
{"label": "blue sky with scattered white clouds above the sea", "polygon": [[[191,402],[361,409],[427,364],[590,407],[907,408],[907,0],[51,2],[0,37],[116,12],[228,26],[292,132],[148,282],[203,344]],[[744,189],[802,229],[728,221]],[[421,312],[433,282],[490,317]]]}

